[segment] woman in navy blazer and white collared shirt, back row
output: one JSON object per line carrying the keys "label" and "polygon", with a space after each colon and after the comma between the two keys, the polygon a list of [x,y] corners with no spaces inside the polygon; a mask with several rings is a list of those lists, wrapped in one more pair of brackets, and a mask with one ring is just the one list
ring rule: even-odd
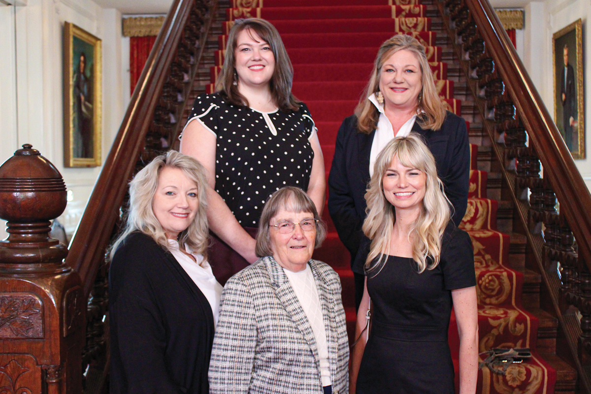
{"label": "woman in navy blazer and white collared shirt, back row", "polygon": [[340,126],[329,175],[329,212],[351,254],[355,301],[359,307],[369,240],[361,226],[365,192],[375,158],[395,136],[416,132],[433,153],[437,176],[460,224],[467,207],[470,146],[464,119],[447,112],[437,95],[425,48],[410,35],[381,45],[365,94]]}

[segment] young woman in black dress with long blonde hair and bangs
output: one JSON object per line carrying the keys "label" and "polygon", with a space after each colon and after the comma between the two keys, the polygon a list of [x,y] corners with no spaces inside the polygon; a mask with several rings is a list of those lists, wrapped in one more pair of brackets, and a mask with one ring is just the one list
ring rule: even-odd
{"label": "young woman in black dress with long blonde hair and bangs", "polygon": [[[420,136],[397,137],[378,155],[365,195],[371,239],[356,337],[373,303],[369,341],[352,352],[351,392],[454,393],[447,331],[460,337],[460,394],[473,394],[478,315],[472,242],[450,220],[435,160]],[[363,313],[361,312],[363,311]],[[356,391],[355,391],[356,389]]]}

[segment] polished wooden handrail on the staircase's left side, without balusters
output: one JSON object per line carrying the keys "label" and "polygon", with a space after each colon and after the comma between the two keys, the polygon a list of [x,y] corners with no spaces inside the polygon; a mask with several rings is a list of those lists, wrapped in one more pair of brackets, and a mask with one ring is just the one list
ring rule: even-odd
{"label": "polished wooden handrail on the staircase's left side, without balusters", "polygon": [[80,274],[86,298],[99,266],[105,261],[105,248],[119,217],[128,180],[144,148],[152,115],[193,3],[194,0],[174,0],[70,242],[66,263]]}

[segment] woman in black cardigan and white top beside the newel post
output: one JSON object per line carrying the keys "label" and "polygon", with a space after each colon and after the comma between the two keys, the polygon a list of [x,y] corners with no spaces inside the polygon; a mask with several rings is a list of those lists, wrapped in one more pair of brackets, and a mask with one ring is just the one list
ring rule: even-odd
{"label": "woman in black cardigan and white top beside the newel post", "polygon": [[111,393],[209,393],[222,286],[205,256],[206,184],[174,151],[131,181],[109,271]]}

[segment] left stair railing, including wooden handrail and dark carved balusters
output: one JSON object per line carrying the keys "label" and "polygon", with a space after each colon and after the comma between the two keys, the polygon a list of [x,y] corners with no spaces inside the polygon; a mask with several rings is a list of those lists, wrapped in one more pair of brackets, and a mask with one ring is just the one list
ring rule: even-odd
{"label": "left stair railing, including wooden handrail and dark carved balusters", "polygon": [[102,392],[108,380],[108,259],[105,252],[125,211],[132,176],[178,134],[217,12],[217,0],[174,0],[131,97],[111,151],[69,246],[66,263],[82,279],[87,303],[83,387]]}

